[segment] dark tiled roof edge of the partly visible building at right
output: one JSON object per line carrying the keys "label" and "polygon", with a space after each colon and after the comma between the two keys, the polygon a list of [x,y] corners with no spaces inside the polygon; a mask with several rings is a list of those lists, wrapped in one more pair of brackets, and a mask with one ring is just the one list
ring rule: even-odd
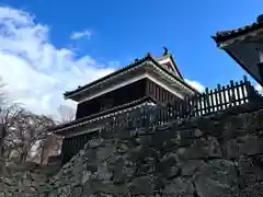
{"label": "dark tiled roof edge of the partly visible building at right", "polygon": [[245,25],[245,26],[240,27],[240,28],[217,32],[216,35],[214,35],[211,37],[216,40],[217,44],[220,44],[221,42],[225,42],[229,38],[232,38],[232,37],[236,37],[236,36],[239,36],[239,35],[244,35],[247,33],[250,33],[252,31],[256,31],[256,30],[262,28],[262,27],[263,27],[262,23],[255,22],[253,24]]}

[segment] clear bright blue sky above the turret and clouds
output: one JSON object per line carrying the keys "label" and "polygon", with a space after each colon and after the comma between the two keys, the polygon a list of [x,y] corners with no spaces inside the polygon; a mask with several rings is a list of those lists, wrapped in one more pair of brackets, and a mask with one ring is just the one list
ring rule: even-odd
{"label": "clear bright blue sky above the turret and clouds", "polygon": [[[169,47],[184,78],[205,86],[241,79],[244,71],[211,39],[217,31],[244,26],[263,13],[262,0],[1,0],[48,26],[48,42],[76,56],[126,66],[134,58]],[[89,30],[90,38],[70,39]],[[117,67],[119,67],[117,66]]]}

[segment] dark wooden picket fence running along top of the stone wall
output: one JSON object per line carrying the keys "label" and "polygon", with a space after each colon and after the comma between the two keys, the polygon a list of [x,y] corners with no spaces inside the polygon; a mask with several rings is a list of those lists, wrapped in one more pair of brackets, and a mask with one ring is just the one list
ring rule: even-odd
{"label": "dark wooden picket fence running along top of the stone wall", "polygon": [[180,118],[213,114],[261,99],[260,93],[244,77],[243,80],[236,83],[231,80],[226,86],[218,84],[214,90],[206,89],[201,95],[186,96],[184,101],[165,105],[146,105],[139,109],[119,114],[107,119],[103,131],[141,129],[163,125]]}

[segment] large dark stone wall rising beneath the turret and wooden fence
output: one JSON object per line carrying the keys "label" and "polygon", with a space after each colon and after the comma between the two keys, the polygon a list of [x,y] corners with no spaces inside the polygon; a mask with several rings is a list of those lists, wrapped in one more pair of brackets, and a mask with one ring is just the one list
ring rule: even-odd
{"label": "large dark stone wall rising beneath the turret and wooden fence", "polygon": [[249,109],[102,134],[35,196],[263,196],[263,109]]}

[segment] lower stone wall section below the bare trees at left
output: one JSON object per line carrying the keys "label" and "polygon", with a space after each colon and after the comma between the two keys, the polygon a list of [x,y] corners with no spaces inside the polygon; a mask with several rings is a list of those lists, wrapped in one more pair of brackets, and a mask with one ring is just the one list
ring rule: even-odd
{"label": "lower stone wall section below the bare trees at left", "polygon": [[52,190],[47,181],[58,171],[56,165],[0,161],[0,197],[45,197]]}

